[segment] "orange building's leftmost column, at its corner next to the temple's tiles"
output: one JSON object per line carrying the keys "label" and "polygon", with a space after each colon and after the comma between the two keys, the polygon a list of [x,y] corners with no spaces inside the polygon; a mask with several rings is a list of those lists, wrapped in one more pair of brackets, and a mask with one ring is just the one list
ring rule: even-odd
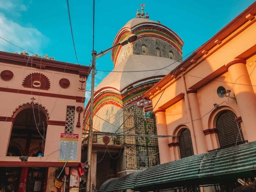
{"label": "orange building's leftmost column, at its corner next to the temple's tiles", "polygon": [[[165,110],[159,109],[154,111],[154,113],[156,115],[157,134],[168,135]],[[171,154],[170,154],[168,143],[169,143],[168,138],[158,138],[159,156],[160,156],[161,164],[171,161]]]}

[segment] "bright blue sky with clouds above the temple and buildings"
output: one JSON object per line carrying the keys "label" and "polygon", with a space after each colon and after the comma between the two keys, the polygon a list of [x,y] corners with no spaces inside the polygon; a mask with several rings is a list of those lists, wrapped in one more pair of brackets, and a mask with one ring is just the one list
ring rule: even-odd
{"label": "bright blue sky with clouds above the temple and buildings", "polygon": [[[121,3],[123,2],[123,3]],[[112,46],[121,27],[136,16],[139,4],[146,4],[151,20],[159,20],[184,41],[183,55],[202,45],[253,0],[95,0],[95,45],[97,52]],[[93,1],[69,0],[72,29],[78,61],[91,64],[93,48]],[[0,0],[0,37],[39,55],[77,63],[72,45],[65,0]],[[0,51],[23,52],[0,39]],[[97,59],[100,70],[112,70],[110,53]],[[108,74],[97,72],[95,85]],[[87,80],[90,90],[91,79]],[[90,92],[86,93],[87,101]],[[86,104],[86,103],[85,103]]]}

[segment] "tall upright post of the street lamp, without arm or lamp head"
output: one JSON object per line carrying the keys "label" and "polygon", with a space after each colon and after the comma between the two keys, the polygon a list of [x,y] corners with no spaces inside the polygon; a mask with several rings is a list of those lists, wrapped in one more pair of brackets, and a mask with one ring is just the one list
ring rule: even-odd
{"label": "tall upright post of the street lamp, without arm or lamp head", "polygon": [[91,152],[93,148],[93,99],[94,99],[94,78],[95,78],[95,56],[97,55],[96,51],[92,51],[93,63],[91,65],[92,74],[91,74],[91,108],[90,108],[90,122],[88,130],[88,145],[87,145],[87,161],[89,169],[87,172],[86,178],[86,192],[91,190]]}

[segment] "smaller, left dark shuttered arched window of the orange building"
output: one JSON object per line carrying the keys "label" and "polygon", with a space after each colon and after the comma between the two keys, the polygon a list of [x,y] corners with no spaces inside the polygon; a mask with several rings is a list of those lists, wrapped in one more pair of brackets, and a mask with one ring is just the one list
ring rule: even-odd
{"label": "smaller, left dark shuttered arched window of the orange building", "polygon": [[184,128],[179,134],[179,153],[181,158],[194,155],[191,134],[187,128]]}

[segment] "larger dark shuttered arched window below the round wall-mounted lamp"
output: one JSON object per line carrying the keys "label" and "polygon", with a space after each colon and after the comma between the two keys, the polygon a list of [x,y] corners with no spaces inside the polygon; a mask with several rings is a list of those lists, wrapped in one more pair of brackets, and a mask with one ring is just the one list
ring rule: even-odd
{"label": "larger dark shuttered arched window below the round wall-mounted lamp", "polygon": [[241,125],[236,123],[235,118],[236,114],[230,110],[221,111],[217,117],[216,128],[221,148],[235,146],[244,142]]}

